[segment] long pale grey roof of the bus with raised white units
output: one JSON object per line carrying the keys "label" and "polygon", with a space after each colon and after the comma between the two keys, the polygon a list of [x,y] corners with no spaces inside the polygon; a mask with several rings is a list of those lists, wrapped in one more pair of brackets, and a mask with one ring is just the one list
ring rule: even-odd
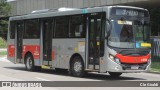
{"label": "long pale grey roof of the bus with raised white units", "polygon": [[14,20],[25,20],[25,19],[34,19],[34,18],[47,18],[47,17],[55,17],[55,16],[64,16],[64,15],[74,15],[74,14],[85,14],[85,13],[93,13],[93,12],[102,12],[107,11],[106,9],[112,7],[120,7],[120,8],[132,8],[132,9],[141,9],[146,10],[144,8],[132,7],[132,6],[103,6],[103,7],[93,7],[93,8],[59,8],[59,9],[44,9],[44,10],[36,10],[32,11],[32,13],[21,16],[13,16],[10,17],[10,21]]}

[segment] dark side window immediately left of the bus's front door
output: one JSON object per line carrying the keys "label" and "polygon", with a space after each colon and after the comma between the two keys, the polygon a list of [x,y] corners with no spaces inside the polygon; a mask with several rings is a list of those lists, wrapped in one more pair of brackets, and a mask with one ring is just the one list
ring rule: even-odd
{"label": "dark side window immediately left of the bus's front door", "polygon": [[84,16],[72,16],[70,22],[70,34],[71,38],[85,37],[85,28],[84,28]]}

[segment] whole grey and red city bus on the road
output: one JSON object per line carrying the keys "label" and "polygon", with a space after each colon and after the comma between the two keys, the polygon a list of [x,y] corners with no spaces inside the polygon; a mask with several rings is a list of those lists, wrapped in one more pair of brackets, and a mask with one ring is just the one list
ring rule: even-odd
{"label": "whole grey and red city bus on the road", "polygon": [[148,71],[151,65],[150,16],[132,6],[36,10],[9,19],[8,55],[29,71],[66,69],[85,72]]}

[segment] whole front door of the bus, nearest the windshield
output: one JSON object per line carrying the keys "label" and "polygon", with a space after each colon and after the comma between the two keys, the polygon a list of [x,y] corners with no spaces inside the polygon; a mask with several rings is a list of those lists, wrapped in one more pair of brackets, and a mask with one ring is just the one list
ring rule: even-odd
{"label": "whole front door of the bus, nearest the windshield", "polygon": [[93,13],[88,17],[88,69],[99,70],[100,45],[102,42],[101,16]]}

